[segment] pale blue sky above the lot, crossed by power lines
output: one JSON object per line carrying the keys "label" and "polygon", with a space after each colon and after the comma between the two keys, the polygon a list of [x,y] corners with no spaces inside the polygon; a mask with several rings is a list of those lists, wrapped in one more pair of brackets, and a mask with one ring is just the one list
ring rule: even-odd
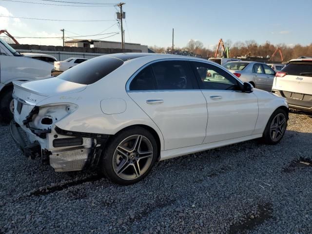
{"label": "pale blue sky above the lot, crossed by power lines", "polygon": [[[0,16],[58,20],[112,20],[104,22],[60,22],[0,17],[0,29],[18,37],[65,37],[112,33],[85,39],[99,39],[120,32],[114,6],[71,7],[31,4],[57,3],[42,0],[0,0]],[[114,0],[63,0],[118,3]],[[233,42],[254,39],[307,45],[312,43],[312,0],[124,0],[125,42],[149,46],[186,46],[190,39],[212,47],[222,38]],[[219,3],[218,3],[219,2]],[[62,4],[62,3],[59,3]],[[110,28],[109,28],[110,27]],[[79,38],[81,39],[81,38]],[[18,39],[23,44],[62,45],[62,39]],[[69,40],[69,39],[68,39]],[[103,40],[121,41],[121,35]]]}

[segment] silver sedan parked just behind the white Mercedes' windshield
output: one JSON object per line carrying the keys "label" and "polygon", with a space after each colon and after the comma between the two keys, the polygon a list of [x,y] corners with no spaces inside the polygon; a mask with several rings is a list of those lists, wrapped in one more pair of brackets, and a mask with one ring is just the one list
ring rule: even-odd
{"label": "silver sedan parked just behind the white Mercedes' windshield", "polygon": [[251,83],[255,88],[271,92],[275,72],[267,64],[241,61],[227,62],[223,66],[242,81]]}

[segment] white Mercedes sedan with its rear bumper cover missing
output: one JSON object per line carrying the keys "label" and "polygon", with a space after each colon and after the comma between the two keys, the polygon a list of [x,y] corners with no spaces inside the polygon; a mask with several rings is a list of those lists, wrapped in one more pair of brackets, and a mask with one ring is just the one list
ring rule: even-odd
{"label": "white Mercedes sedan with its rear bumper cover missing", "polygon": [[254,138],[278,143],[288,120],[285,98],[175,55],[100,56],[57,78],[17,81],[13,97],[11,134],[26,156],[57,172],[96,167],[119,184],[141,180],[156,160]]}

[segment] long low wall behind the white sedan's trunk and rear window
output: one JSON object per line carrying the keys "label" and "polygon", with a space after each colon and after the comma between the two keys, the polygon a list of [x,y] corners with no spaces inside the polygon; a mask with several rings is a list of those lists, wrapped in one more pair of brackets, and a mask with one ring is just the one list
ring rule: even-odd
{"label": "long low wall behind the white sedan's trunk and rear window", "polygon": [[[11,44],[11,46],[19,52],[27,53],[41,53],[52,55],[59,61],[77,57],[92,59],[97,56],[122,53],[121,49],[111,49],[111,48],[85,48],[85,47],[70,47],[70,46],[50,46],[50,45],[27,45],[27,44]],[[141,53],[141,50],[131,50],[125,49],[124,52],[136,52]]]}

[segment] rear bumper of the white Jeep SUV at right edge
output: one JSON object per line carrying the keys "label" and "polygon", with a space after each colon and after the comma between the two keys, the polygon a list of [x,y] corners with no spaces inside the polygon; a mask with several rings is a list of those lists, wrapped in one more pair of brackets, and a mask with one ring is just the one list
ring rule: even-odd
{"label": "rear bumper of the white Jeep SUV at right edge", "polygon": [[312,112],[312,95],[286,92],[276,89],[273,89],[272,93],[279,97],[286,98],[289,108],[291,109]]}

